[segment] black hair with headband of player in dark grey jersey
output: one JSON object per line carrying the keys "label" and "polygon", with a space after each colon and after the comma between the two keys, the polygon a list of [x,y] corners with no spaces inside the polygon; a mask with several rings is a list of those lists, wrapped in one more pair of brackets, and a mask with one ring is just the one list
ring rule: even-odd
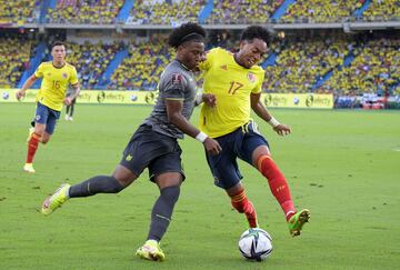
{"label": "black hair with headband of player in dark grey jersey", "polygon": [[177,49],[186,41],[196,40],[202,42],[204,41],[204,28],[202,28],[198,23],[188,22],[172,30],[171,34],[168,38],[168,44]]}

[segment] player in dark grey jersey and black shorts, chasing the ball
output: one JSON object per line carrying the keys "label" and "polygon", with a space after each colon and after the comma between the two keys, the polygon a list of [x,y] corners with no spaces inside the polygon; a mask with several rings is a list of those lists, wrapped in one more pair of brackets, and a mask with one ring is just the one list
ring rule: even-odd
{"label": "player in dark grey jersey and black shorts, chasing the ball", "polygon": [[162,72],[157,104],[133,133],[112,176],[97,176],[72,187],[62,184],[44,200],[43,214],[50,214],[68,199],[118,193],[148,168],[150,180],[160,189],[160,197],[151,211],[148,240],[138,249],[137,256],[149,260],[164,259],[159,242],[171,221],[184,180],[177,139],[182,139],[183,133],[189,134],[202,142],[211,156],[221,150],[216,140],[189,122],[197,94],[192,70],[198,68],[203,56],[204,37],[204,29],[196,23],[182,24],[171,32],[168,43],[177,50],[177,57]]}

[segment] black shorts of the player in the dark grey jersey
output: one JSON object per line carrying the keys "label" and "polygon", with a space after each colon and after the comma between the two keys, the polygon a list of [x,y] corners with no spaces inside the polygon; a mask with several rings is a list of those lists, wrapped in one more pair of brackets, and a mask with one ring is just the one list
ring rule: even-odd
{"label": "black shorts of the player in the dark grey jersey", "polygon": [[177,139],[141,124],[124,149],[120,164],[138,177],[148,168],[151,181],[164,172],[179,172],[184,180],[181,153]]}

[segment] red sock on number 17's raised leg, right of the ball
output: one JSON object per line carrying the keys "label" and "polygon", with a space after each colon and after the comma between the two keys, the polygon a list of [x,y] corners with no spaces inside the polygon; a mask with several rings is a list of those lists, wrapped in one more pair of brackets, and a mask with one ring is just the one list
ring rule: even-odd
{"label": "red sock on number 17's raised leg, right of the ball", "polygon": [[290,196],[290,189],[283,173],[273,162],[271,156],[261,156],[257,162],[259,171],[268,179],[272,194],[281,206],[286,219],[289,220],[294,213],[296,208]]}

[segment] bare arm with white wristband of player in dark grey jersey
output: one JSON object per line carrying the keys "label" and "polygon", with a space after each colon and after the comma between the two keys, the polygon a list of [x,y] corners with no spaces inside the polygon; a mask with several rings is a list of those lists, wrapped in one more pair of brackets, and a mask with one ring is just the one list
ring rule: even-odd
{"label": "bare arm with white wristband of player in dark grey jersey", "polygon": [[208,137],[204,132],[198,130],[182,116],[182,101],[166,99],[166,106],[168,121],[180,129],[183,133],[202,142],[207,152],[211,154],[218,154],[222,150],[218,141]]}

